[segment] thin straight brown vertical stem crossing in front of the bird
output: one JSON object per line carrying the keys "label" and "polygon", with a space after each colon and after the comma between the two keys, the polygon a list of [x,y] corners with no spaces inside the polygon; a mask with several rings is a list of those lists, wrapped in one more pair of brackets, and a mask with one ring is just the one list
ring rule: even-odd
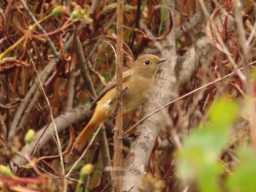
{"label": "thin straight brown vertical stem crossing in front of the bird", "polygon": [[123,68],[123,15],[124,15],[124,0],[117,1],[117,43],[116,43],[116,131],[114,132],[114,186],[115,191],[121,191],[121,148],[122,148],[122,124],[123,124],[123,109],[122,109],[122,68]]}

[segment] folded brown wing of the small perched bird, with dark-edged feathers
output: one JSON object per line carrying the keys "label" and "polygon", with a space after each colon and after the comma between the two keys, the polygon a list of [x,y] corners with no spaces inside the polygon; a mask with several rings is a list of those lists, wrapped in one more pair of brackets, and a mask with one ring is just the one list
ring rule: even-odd
{"label": "folded brown wing of the small perched bird, with dark-edged feathers", "polygon": [[[132,77],[132,72],[127,70],[126,72],[124,72],[123,74],[123,79],[122,82],[126,82],[127,80],[129,80],[129,78]],[[111,89],[116,88],[116,78],[111,81],[110,83],[108,83],[108,85],[102,90],[102,92],[99,93],[99,95],[97,96],[97,98],[94,100],[94,102],[91,104],[91,111],[95,110],[95,107],[97,106],[97,101],[99,101],[100,99],[102,99],[103,96],[105,96],[105,93],[108,93],[108,91],[110,91]]]}

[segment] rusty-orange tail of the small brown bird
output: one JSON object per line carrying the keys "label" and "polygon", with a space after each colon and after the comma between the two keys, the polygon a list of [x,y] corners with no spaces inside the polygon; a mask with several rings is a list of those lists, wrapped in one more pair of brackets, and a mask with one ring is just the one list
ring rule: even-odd
{"label": "rusty-orange tail of the small brown bird", "polygon": [[76,141],[75,141],[75,148],[77,150],[82,150],[83,147],[88,142],[91,134],[94,132],[94,129],[97,128],[101,123],[107,120],[109,117],[105,116],[105,110],[95,110],[94,115],[92,116],[90,122],[87,124],[83,131],[80,132]]}

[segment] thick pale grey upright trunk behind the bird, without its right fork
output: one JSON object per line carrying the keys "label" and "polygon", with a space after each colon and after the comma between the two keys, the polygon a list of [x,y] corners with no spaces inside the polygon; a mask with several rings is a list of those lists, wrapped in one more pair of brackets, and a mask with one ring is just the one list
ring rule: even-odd
{"label": "thick pale grey upright trunk behind the bird, without its right fork", "polygon": [[[169,9],[174,9],[175,1],[167,1]],[[175,18],[172,11],[173,18]],[[165,21],[169,23],[168,20]],[[175,21],[173,20],[173,26]],[[168,62],[161,64],[157,73],[154,85],[155,90],[151,93],[150,99],[142,106],[142,116],[153,112],[163,106],[168,101],[176,98],[178,95],[178,85],[176,78],[176,39],[174,31],[170,31],[166,39],[159,42],[162,48],[161,58],[167,58]],[[192,65],[195,66],[195,65]],[[157,134],[161,127],[170,126],[170,117],[167,115],[167,109],[152,115],[143,121],[136,128],[140,134],[132,141],[129,155],[124,161],[124,181],[122,183],[123,191],[141,191],[143,177],[148,170],[148,161],[151,156]],[[152,191],[154,189],[152,188]]]}

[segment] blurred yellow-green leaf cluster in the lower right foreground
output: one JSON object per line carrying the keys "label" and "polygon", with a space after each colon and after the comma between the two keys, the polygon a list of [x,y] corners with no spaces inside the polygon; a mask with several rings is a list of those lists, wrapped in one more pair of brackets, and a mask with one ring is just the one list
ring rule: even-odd
{"label": "blurred yellow-green leaf cluster in the lower right foreground", "polygon": [[223,166],[217,159],[237,116],[236,101],[226,97],[217,100],[210,109],[211,123],[192,131],[184,140],[184,148],[178,150],[178,174],[183,180],[195,180],[199,191],[221,191],[217,181]]}

